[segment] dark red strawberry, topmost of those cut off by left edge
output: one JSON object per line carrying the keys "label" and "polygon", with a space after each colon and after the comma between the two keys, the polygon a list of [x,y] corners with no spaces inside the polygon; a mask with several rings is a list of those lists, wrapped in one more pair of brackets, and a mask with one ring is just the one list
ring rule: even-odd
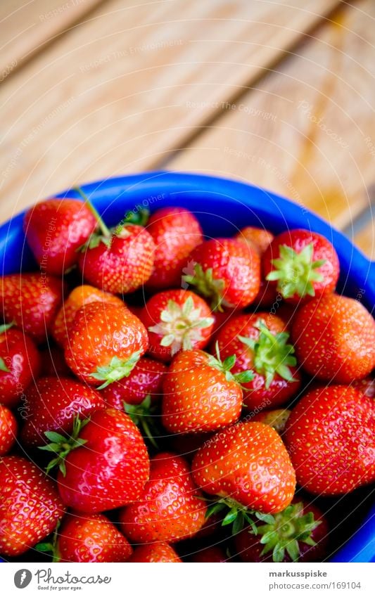
{"label": "dark red strawberry, topmost of those cut off by left edge", "polygon": [[0,280],[4,321],[15,322],[35,342],[44,342],[63,302],[65,286],[44,274],[10,274]]}

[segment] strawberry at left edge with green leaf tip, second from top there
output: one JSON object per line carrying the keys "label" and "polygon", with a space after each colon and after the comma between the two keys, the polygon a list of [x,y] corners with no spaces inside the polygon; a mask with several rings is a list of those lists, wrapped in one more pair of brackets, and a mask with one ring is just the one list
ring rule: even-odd
{"label": "strawberry at left edge with green leaf tip, second from top there", "polygon": [[11,408],[20,402],[41,366],[32,339],[12,326],[0,326],[0,402]]}

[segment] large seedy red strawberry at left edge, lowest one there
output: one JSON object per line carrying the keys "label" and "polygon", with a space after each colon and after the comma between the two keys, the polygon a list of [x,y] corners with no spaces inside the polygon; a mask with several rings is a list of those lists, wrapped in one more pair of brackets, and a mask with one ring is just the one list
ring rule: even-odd
{"label": "large seedy red strawberry at left edge, lowest one there", "polygon": [[26,458],[0,458],[0,553],[19,556],[44,539],[63,516],[55,485]]}

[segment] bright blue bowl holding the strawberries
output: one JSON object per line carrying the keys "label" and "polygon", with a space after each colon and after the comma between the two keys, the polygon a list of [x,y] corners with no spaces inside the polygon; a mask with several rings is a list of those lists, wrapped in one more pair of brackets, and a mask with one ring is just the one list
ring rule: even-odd
{"label": "bright blue bowl holding the strawberries", "polygon": [[[97,181],[82,187],[101,212],[106,223],[115,225],[128,210],[178,205],[193,211],[207,236],[232,236],[243,226],[264,226],[274,233],[307,228],[333,243],[341,264],[338,292],[357,298],[373,311],[375,305],[375,262],[362,253],[322,219],[303,205],[291,203],[262,188],[236,181],[196,174],[146,172],[134,176]],[[58,197],[79,197],[65,191]],[[0,259],[3,274],[36,269],[23,235],[23,214],[0,227]],[[370,491],[370,489],[369,489]],[[375,561],[375,508],[358,522],[357,532],[333,562]]]}

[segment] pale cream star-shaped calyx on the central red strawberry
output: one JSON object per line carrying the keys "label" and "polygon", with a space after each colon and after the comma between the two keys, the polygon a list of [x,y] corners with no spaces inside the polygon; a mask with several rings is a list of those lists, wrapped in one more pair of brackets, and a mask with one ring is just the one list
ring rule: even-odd
{"label": "pale cream star-shaped calyx on the central red strawberry", "polygon": [[179,350],[191,350],[203,339],[202,330],[214,323],[213,317],[202,317],[201,308],[194,308],[193,297],[186,299],[183,305],[169,300],[167,307],[160,314],[160,321],[148,328],[159,336],[160,346],[170,347],[172,355]]}

